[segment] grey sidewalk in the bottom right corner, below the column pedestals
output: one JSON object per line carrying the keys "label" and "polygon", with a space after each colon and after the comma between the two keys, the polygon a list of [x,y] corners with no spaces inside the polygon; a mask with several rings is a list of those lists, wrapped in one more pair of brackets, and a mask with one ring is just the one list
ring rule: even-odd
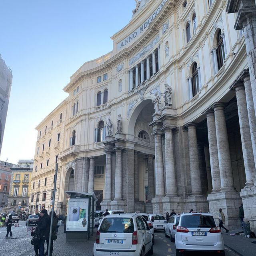
{"label": "grey sidewalk in the bottom right corner, below the column pedestals", "polygon": [[[232,232],[229,232],[232,233]],[[256,244],[252,243],[256,241],[256,238],[245,238],[244,235],[230,236],[230,234],[222,234],[224,244],[230,249],[234,250],[241,256],[255,256]]]}

